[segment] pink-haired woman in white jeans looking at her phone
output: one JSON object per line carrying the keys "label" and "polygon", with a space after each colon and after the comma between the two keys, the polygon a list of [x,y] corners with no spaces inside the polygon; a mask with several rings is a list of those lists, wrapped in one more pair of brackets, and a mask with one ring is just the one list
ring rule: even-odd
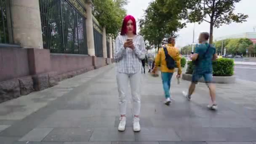
{"label": "pink-haired woman in white jeans looking at her phone", "polygon": [[119,131],[125,131],[126,96],[130,81],[133,100],[133,131],[140,131],[139,114],[141,109],[141,60],[145,58],[145,43],[141,35],[136,34],[136,20],[133,16],[125,16],[121,35],[115,40],[115,60],[117,87],[119,92],[120,123]]}

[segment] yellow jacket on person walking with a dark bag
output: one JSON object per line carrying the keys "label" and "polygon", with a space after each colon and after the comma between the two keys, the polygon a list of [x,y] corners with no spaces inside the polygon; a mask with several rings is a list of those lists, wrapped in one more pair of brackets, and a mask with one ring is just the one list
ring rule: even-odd
{"label": "yellow jacket on person walking with a dark bag", "polygon": [[[166,48],[168,50],[168,54],[176,61],[176,64],[179,68],[178,70],[178,74],[181,74],[181,59],[179,56],[179,50],[178,48],[175,48],[172,44],[167,44]],[[163,50],[163,48],[161,48],[158,53],[157,56],[155,58],[155,66],[156,67],[161,67],[161,72],[175,72],[175,69],[168,69],[167,68],[167,64],[165,61],[165,52]]]}

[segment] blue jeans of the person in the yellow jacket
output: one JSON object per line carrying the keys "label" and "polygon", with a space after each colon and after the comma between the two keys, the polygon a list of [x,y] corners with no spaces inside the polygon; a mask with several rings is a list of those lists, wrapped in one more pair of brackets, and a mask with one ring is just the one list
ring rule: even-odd
{"label": "blue jeans of the person in the yellow jacket", "polygon": [[161,72],[163,90],[165,91],[165,98],[171,98],[170,87],[171,87],[171,77],[173,73],[171,72]]}

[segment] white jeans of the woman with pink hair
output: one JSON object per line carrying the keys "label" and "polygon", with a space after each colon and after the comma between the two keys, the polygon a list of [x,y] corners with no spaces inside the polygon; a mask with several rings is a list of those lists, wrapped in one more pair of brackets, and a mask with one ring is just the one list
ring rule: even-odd
{"label": "white jeans of the woman with pink hair", "polygon": [[141,86],[141,74],[137,72],[135,74],[124,74],[117,72],[117,87],[119,92],[119,109],[120,114],[126,114],[126,96],[128,90],[128,83],[130,81],[131,86],[131,95],[132,95],[132,104],[133,104],[133,115],[139,115],[141,109],[141,95],[140,95],[140,86]]}

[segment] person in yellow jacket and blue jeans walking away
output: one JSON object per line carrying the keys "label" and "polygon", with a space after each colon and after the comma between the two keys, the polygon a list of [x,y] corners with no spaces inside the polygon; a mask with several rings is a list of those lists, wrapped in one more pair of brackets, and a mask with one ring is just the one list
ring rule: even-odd
{"label": "person in yellow jacket and blue jeans walking away", "polygon": [[[176,62],[176,66],[178,67],[178,75],[176,77],[180,77],[181,71],[181,59],[179,56],[178,48],[175,48],[175,40],[172,38],[168,39],[168,44],[166,45],[166,49],[168,50],[168,54],[171,58]],[[165,104],[169,105],[171,103],[171,94],[170,94],[170,87],[171,87],[171,78],[173,73],[175,72],[175,68],[168,69],[167,63],[165,61],[165,51],[164,48],[161,48],[157,56],[155,58],[155,66],[154,72],[157,70],[157,67],[161,67],[161,77],[163,82],[163,89],[165,92]]]}

